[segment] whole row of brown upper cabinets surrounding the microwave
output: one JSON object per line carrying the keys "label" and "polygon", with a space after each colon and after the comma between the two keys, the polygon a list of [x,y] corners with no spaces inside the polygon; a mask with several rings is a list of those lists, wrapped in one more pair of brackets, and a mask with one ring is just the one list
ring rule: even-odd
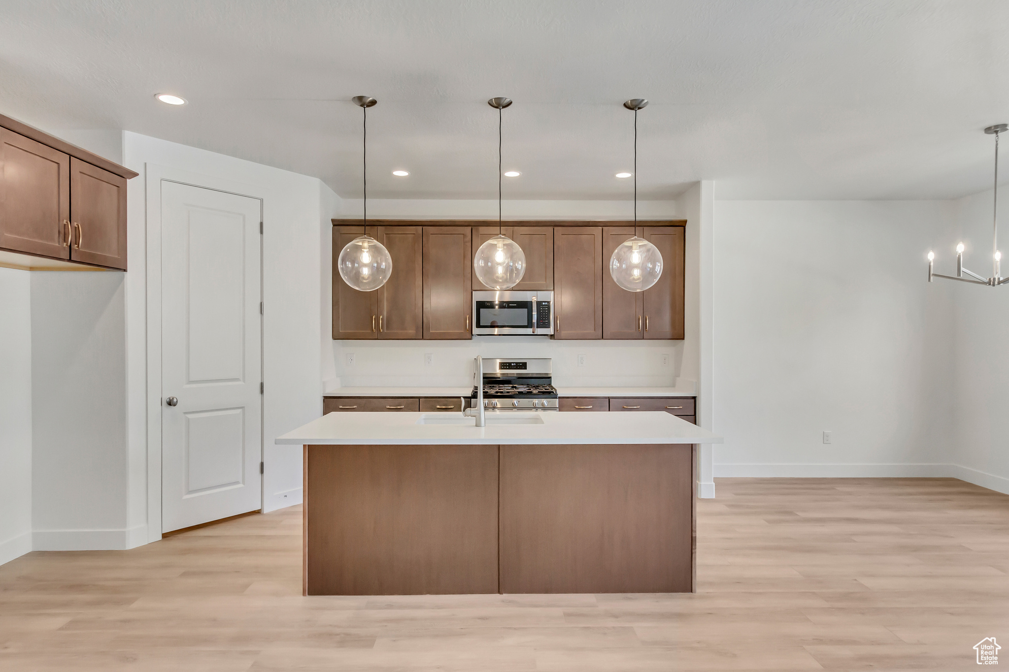
{"label": "whole row of brown upper cabinets surrounding the microwave", "polygon": [[[618,287],[606,267],[613,248],[634,234],[631,222],[509,222],[501,232],[526,254],[526,274],[514,289],[554,292],[551,338],[677,341],[684,338],[686,224],[638,223],[665,262],[659,282],[640,293]],[[363,222],[333,225],[335,259]],[[333,339],[472,339],[472,290],[484,289],[473,255],[497,235],[497,223],[368,220],[367,229],[388,249],[393,275],[382,288],[362,292],[332,269]]]}

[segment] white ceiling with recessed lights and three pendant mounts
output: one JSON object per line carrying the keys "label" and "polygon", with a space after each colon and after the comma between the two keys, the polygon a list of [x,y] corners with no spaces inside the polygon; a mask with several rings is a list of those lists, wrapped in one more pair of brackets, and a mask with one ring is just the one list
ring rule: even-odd
{"label": "white ceiling with recessed lights and three pendant mounts", "polygon": [[[987,188],[1009,2],[4,0],[0,112],[136,131],[360,196],[933,198]],[[157,92],[187,98],[173,108]],[[1007,162],[1009,164],[1009,162]],[[394,177],[407,169],[411,175]],[[1005,171],[1009,174],[1009,169]]]}

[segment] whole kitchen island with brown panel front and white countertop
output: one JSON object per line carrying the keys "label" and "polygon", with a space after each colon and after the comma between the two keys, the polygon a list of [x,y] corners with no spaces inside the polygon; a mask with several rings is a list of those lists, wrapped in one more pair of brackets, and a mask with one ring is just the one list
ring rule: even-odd
{"label": "whole kitchen island with brown panel front and white countertop", "polygon": [[330,413],[305,446],[305,594],[689,592],[696,445],[664,412]]}

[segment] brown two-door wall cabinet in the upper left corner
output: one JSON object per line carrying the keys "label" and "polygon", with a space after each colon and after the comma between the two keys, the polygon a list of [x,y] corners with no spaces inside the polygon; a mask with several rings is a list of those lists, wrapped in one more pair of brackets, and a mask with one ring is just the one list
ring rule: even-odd
{"label": "brown two-door wall cabinet in the upper left corner", "polygon": [[0,115],[0,266],[126,270],[136,172]]}

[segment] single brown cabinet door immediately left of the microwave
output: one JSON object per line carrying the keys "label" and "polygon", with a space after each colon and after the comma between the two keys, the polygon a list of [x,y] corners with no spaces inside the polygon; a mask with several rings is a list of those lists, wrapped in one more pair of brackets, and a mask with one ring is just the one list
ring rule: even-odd
{"label": "single brown cabinet door immediately left of the microwave", "polygon": [[424,227],[424,338],[472,339],[469,227]]}

